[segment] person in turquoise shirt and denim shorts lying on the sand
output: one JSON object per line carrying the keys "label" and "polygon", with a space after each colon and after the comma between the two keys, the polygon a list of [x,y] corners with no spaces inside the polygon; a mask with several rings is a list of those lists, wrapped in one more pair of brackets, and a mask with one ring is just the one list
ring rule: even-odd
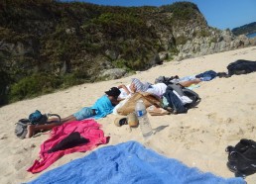
{"label": "person in turquoise shirt and denim shorts lying on the sand", "polygon": [[27,128],[28,134],[26,138],[31,138],[40,131],[52,130],[57,126],[63,125],[64,123],[80,121],[87,118],[103,118],[113,112],[114,107],[119,103],[117,98],[120,93],[121,92],[117,87],[112,87],[106,91],[105,95],[100,97],[92,107],[84,107],[73,115],[61,119],[61,122],[59,122],[58,119],[50,119],[45,125],[29,125]]}

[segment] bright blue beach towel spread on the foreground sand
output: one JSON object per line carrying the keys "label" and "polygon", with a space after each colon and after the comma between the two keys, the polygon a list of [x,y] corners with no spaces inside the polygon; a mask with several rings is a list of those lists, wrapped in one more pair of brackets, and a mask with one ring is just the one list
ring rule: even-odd
{"label": "bright blue beach towel spread on the foreground sand", "polygon": [[136,141],[128,141],[99,148],[83,158],[46,172],[30,183],[245,184],[245,181],[202,173]]}

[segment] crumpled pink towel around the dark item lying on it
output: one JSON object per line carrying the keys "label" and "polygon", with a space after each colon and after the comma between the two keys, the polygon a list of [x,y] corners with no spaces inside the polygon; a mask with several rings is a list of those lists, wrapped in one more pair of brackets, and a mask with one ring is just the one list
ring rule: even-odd
{"label": "crumpled pink towel around the dark item lying on it", "polygon": [[[51,138],[47,139],[41,145],[40,159],[35,160],[34,164],[28,169],[29,172],[37,173],[48,168],[52,163],[61,158],[64,154],[72,152],[82,152],[91,150],[99,144],[107,143],[107,137],[99,129],[100,125],[94,120],[74,121],[64,124],[53,129]],[[64,150],[48,153],[48,150],[59,143],[62,139],[66,138],[70,133],[78,132],[83,138],[88,138],[89,142],[77,145]]]}

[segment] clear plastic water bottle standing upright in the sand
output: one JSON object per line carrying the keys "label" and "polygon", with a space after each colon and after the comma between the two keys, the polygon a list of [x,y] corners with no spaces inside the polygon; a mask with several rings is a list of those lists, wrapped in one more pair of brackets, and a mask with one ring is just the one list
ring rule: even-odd
{"label": "clear plastic water bottle standing upright in the sand", "polygon": [[147,115],[146,107],[142,100],[137,101],[135,106],[135,112],[139,120],[139,125],[143,138],[150,138],[153,132]]}

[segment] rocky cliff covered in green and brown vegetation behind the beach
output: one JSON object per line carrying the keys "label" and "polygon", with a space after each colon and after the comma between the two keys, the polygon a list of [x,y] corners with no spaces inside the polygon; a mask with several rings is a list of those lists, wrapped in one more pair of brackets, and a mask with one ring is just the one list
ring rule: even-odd
{"label": "rocky cliff covered in green and brown vegetation behind the beach", "polygon": [[[0,2],[0,104],[119,78],[164,60],[255,45],[209,28],[196,5],[109,7]],[[114,69],[113,69],[114,68]]]}

